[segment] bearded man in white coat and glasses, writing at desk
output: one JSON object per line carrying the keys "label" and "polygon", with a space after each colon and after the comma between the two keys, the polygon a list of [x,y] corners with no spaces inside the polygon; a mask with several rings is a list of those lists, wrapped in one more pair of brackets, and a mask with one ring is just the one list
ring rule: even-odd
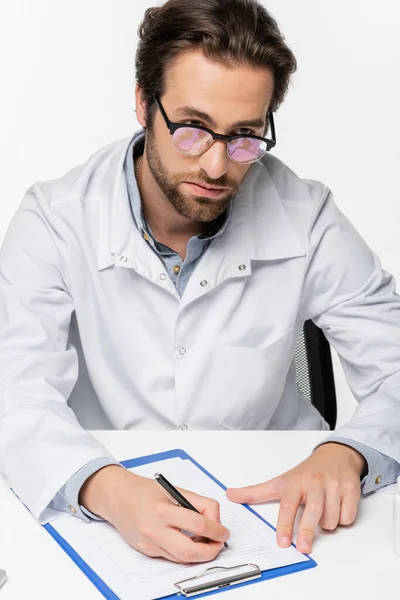
{"label": "bearded man in white coat and glasses, writing at desk", "polygon": [[[300,465],[228,490],[280,499],[309,552],[400,460],[400,302],[321,183],[268,154],[296,61],[256,2],[169,0],[136,58],[143,129],[28,190],[0,260],[2,472],[36,517],[104,518],[149,556],[214,558],[229,537],[118,466],[86,429],[326,429],[296,389],[313,319],[360,401]],[[189,530],[210,541],[194,541]]]}

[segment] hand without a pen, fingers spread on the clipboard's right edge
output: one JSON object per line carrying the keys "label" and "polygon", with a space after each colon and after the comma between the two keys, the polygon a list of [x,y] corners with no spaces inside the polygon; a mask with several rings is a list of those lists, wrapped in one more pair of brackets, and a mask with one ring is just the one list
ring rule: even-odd
{"label": "hand without a pen, fingers spread on the clipboard's right edge", "polygon": [[290,471],[244,488],[227,490],[229,500],[258,503],[280,500],[277,543],[290,546],[293,525],[300,504],[305,508],[297,534],[297,549],[309,553],[318,524],[333,530],[353,523],[361,495],[360,475],[364,457],[344,444],[329,442],[319,446],[305,461]]}

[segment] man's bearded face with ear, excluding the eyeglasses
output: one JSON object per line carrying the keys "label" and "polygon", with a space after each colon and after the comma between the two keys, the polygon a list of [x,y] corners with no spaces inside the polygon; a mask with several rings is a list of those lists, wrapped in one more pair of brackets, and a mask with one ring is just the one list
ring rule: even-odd
{"label": "man's bearded face with ear, excluding the eyeglasses", "polygon": [[[227,68],[195,50],[179,56],[168,70],[160,100],[174,123],[203,125],[226,135],[263,136],[272,93],[271,71]],[[145,105],[139,87],[136,106],[138,120],[145,127]],[[203,113],[201,118],[196,111]],[[258,123],[245,124],[248,121]],[[171,138],[157,109],[153,125],[146,131],[145,147],[157,191],[186,219],[216,219],[239,190],[251,165],[233,162],[227,155],[226,142],[217,140],[203,154],[187,156],[175,150]],[[213,189],[206,190],[202,185]]]}

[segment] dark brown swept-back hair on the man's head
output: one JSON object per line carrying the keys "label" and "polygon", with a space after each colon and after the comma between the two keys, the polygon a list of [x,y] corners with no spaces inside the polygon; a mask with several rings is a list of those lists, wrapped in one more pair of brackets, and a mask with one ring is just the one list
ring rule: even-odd
{"label": "dark brown swept-back hair on the man's head", "polygon": [[272,111],[283,102],[297,68],[277,22],[256,0],[168,0],[146,10],[138,36],[136,81],[148,129],[154,95],[163,95],[165,72],[182,52],[201,48],[207,59],[229,67],[268,67],[274,74]]}

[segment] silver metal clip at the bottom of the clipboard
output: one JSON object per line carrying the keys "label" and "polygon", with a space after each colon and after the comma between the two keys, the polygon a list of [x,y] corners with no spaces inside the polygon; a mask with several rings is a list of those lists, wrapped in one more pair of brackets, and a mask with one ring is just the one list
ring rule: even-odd
{"label": "silver metal clip at the bottom of the clipboard", "polygon": [[260,567],[254,563],[244,563],[232,567],[209,567],[195,577],[177,581],[174,585],[181,594],[189,598],[196,594],[211,592],[232,584],[244,583],[258,577],[261,577]]}

